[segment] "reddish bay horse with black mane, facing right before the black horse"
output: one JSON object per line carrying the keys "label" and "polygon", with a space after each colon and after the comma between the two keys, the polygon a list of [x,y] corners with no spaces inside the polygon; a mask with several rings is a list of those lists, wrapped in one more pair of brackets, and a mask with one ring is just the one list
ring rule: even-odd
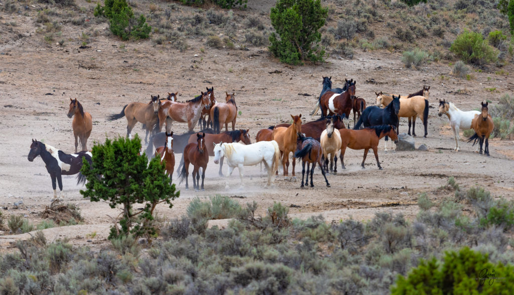
{"label": "reddish bay horse with black mane, facing right before the black horse", "polygon": [[344,152],[346,148],[349,147],[351,149],[364,149],[364,158],[362,159],[362,168],[364,168],[364,161],[366,161],[366,155],[368,155],[368,150],[373,149],[373,153],[375,153],[375,159],[377,159],[378,169],[382,170],[380,166],[380,162],[378,161],[378,141],[384,136],[390,136],[395,143],[398,142],[398,135],[396,135],[396,131],[394,130],[394,125],[380,125],[380,126],[372,126],[367,127],[361,130],[352,130],[352,129],[339,129],[341,133],[341,166],[344,167]]}

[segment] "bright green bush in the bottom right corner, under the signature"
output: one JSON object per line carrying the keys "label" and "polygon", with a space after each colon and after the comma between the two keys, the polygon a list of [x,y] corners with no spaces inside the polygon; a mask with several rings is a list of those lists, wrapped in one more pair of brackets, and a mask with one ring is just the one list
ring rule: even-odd
{"label": "bright green bush in the bottom right corner, under the signature", "polygon": [[[495,278],[505,278],[505,281],[493,284]],[[487,254],[464,247],[458,252],[447,251],[442,263],[435,258],[422,260],[407,278],[398,276],[391,293],[456,294],[484,291],[494,294],[505,288],[514,288],[513,280],[512,265],[493,265],[488,261]]]}

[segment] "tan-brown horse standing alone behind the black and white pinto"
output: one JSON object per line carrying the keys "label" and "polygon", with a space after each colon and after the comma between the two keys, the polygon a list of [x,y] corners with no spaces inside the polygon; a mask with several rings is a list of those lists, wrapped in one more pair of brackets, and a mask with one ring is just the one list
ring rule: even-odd
{"label": "tan-brown horse standing alone behind the black and white pinto", "polygon": [[73,123],[71,123],[71,126],[73,127],[73,136],[75,136],[75,152],[77,152],[77,146],[79,145],[77,137],[80,139],[80,143],[82,144],[82,150],[87,150],[87,139],[91,134],[91,130],[93,130],[93,119],[91,118],[90,113],[84,112],[84,108],[77,99],[69,100],[71,102],[69,103],[68,118],[75,115]]}

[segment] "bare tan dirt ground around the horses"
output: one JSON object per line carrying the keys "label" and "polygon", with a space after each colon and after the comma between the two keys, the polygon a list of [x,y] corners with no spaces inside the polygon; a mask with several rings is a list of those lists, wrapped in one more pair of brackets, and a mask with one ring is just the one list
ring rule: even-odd
{"label": "bare tan dirt ground around the horses", "polygon": [[[94,5],[85,1],[77,4]],[[256,7],[235,13],[249,15],[262,10]],[[34,11],[31,15],[35,15]],[[10,22],[18,26],[7,26]],[[317,170],[315,187],[306,189],[300,189],[299,179],[284,180],[283,176],[276,179],[273,188],[263,189],[265,172],[252,166],[245,167],[244,189],[239,188],[236,171],[230,179],[231,189],[225,190],[225,179],[217,176],[218,167],[211,159],[206,190],[186,191],[184,184],[177,185],[180,198],[173,202],[172,209],[163,206],[158,213],[165,218],[180,217],[194,196],[219,193],[237,196],[236,200],[243,205],[258,202],[260,214],[265,214],[273,202],[281,202],[291,206],[292,217],[299,218],[322,214],[327,221],[370,220],[378,211],[392,210],[413,219],[418,211],[418,193],[427,192],[432,200],[444,198],[446,192],[438,192],[438,187],[449,176],[455,176],[464,187],[478,184],[495,196],[514,196],[513,142],[492,140],[489,157],[474,153],[474,147],[464,141],[462,151],[454,152],[448,119],[437,116],[438,99],[451,101],[463,110],[478,108],[485,100],[497,103],[502,93],[512,92],[512,75],[484,71],[473,73],[471,81],[459,80],[449,75],[451,68],[443,63],[431,63],[420,71],[405,69],[400,61],[401,52],[389,51],[358,51],[353,60],[329,57],[321,65],[290,67],[269,56],[266,48],[218,50],[206,47],[205,40],[197,40],[189,41],[189,50],[179,52],[150,40],[121,42],[107,32],[106,24],[95,25],[104,33],[95,37],[89,48],[79,49],[79,42],[67,42],[64,46],[45,43],[42,35],[35,32],[37,26],[31,16],[2,14],[0,23],[0,31],[5,32],[0,37],[0,205],[4,217],[24,214],[38,223],[38,214],[49,205],[50,176],[40,158],[30,163],[27,154],[31,139],[65,152],[74,151],[72,120],[66,116],[70,98],[77,98],[84,110],[93,115],[89,149],[94,142],[103,143],[106,137],[125,136],[125,119],[106,120],[107,115],[119,113],[125,104],[148,102],[151,94],[163,96],[175,91],[180,93],[178,100],[185,101],[212,86],[218,99],[225,97],[225,91],[235,92],[241,111],[236,127],[250,129],[254,141],[260,129],[288,122],[289,114],[301,113],[304,122],[317,119],[318,116],[311,119],[308,113],[321,91],[321,77],[327,75],[338,87],[343,85],[344,78],[356,80],[357,95],[364,97],[368,105],[374,104],[375,91],[411,93],[424,84],[430,85],[428,138],[416,137],[416,147],[425,144],[429,151],[386,153],[382,141],[379,158],[384,169],[378,170],[373,154],[368,155],[366,169],[361,169],[363,151],[347,150],[347,169],[328,175],[330,188],[325,187]],[[79,34],[73,27],[63,26],[63,36],[76,38]],[[503,70],[514,72],[510,65]],[[496,88],[497,92],[485,88]],[[458,94],[457,90],[467,94]],[[407,120],[400,121],[400,132],[406,132]],[[421,134],[420,121],[416,127]],[[186,129],[186,124],[173,125],[176,134]],[[133,133],[144,136],[140,124]],[[301,164],[296,167],[296,175],[301,178]],[[107,245],[108,228],[119,210],[106,203],[84,200],[79,192],[84,187],[76,185],[75,176],[64,176],[63,186],[65,202],[76,203],[85,222],[46,229],[47,239],[68,237],[74,245]],[[20,200],[23,205],[14,208],[13,203]],[[93,232],[97,233],[95,238],[86,238]],[[29,237],[7,233],[0,235],[0,248],[4,250],[12,247],[15,239]]]}

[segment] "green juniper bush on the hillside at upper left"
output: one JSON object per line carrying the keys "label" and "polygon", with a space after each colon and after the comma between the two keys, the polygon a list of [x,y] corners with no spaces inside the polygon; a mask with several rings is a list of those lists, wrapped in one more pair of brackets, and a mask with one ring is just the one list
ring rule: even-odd
{"label": "green juniper bush on the hillside at upper left", "polygon": [[126,0],[105,0],[105,6],[97,4],[94,15],[109,20],[109,29],[121,40],[148,38],[152,27],[146,24],[144,15],[136,17]]}

